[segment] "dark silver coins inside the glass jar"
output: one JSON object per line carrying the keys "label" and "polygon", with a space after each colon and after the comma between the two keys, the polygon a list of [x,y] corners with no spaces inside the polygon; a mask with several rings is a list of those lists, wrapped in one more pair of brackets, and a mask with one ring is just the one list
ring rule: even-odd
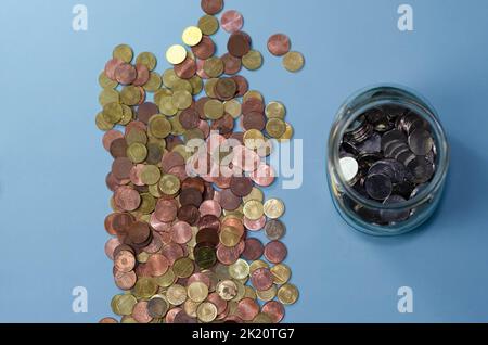
{"label": "dark silver coins inside the glass jar", "polygon": [[[416,196],[436,171],[432,126],[400,105],[367,111],[348,128],[341,145],[345,180],[363,197],[394,205]],[[410,209],[375,212],[351,206],[364,220],[391,225],[410,218]]]}

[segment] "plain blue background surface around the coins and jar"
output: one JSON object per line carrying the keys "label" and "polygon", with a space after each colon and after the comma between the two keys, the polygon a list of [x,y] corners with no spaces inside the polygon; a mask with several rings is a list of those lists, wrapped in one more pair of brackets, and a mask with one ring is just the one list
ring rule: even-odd
{"label": "plain blue background surface around the coins and jar", "polygon": [[[98,75],[113,47],[164,52],[202,15],[200,1],[85,0],[88,31],[66,0],[3,0],[0,9],[0,321],[92,322],[117,292],[103,246],[111,157],[94,125]],[[305,139],[304,186],[270,189],[287,206],[287,264],[300,301],[290,322],[488,321],[488,2],[428,0],[414,31],[394,0],[227,1],[265,55],[252,88],[281,100]],[[292,75],[266,50],[284,31],[306,68]],[[220,44],[227,35],[217,36]],[[220,46],[222,47],[222,46]],[[224,47],[224,46],[223,46]],[[219,53],[223,49],[220,48]],[[409,86],[437,108],[452,145],[440,209],[423,229],[376,239],[349,229],[325,181],[325,142],[341,103],[376,82]],[[72,311],[86,286],[89,312]],[[414,312],[397,311],[397,290]]]}

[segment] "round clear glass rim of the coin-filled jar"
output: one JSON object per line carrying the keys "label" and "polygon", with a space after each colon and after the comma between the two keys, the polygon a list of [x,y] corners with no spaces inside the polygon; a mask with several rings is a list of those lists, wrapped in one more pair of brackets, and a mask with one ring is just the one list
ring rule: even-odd
{"label": "round clear glass rim of the coin-filled jar", "polygon": [[[401,95],[394,97],[391,94],[388,94],[385,97],[378,97],[373,102],[371,102],[370,100],[364,100],[362,103],[359,103],[358,106],[352,110],[352,112],[346,113],[349,103],[355,100],[360,100],[361,95],[365,95],[368,92],[375,91],[394,91],[399,92]],[[425,188],[418,195],[408,201],[389,205],[385,205],[381,202],[367,199],[358,193],[349,183],[346,182],[339,168],[339,145],[346,129],[364,112],[387,104],[407,107],[411,111],[414,111],[416,114],[422,116],[422,118],[427,120],[432,126],[437,146],[437,169],[433,179],[431,180],[431,182],[428,182],[427,188]],[[332,164],[334,165],[334,167],[336,167],[332,169],[336,182],[339,184],[342,190],[347,192],[348,196],[351,197],[352,201],[369,208],[376,208],[381,210],[397,210],[404,208],[415,208],[420,206],[425,202],[426,199],[431,197],[433,192],[441,188],[449,169],[450,149],[444,127],[437,118],[436,111],[423,97],[403,86],[382,84],[367,87],[355,92],[339,107],[336,116],[336,122],[332,126],[330,133],[329,157],[330,164],[332,159]]]}

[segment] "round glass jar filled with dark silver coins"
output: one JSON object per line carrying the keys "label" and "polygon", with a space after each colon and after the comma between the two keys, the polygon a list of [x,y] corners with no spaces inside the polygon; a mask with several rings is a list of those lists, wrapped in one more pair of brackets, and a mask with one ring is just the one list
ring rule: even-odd
{"label": "round glass jar filled with dark silver coins", "polygon": [[350,97],[329,138],[335,207],[355,229],[397,235],[425,222],[441,199],[449,145],[434,108],[406,88]]}

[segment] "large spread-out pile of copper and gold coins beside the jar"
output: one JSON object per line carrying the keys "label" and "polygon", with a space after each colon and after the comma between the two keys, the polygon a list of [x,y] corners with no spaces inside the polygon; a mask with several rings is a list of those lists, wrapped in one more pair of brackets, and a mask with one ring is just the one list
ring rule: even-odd
{"label": "large spread-out pile of copper and gold coins beside the jar", "polygon": [[[240,30],[242,16],[222,16],[231,36],[218,58],[210,35],[223,2],[202,8],[206,14],[182,35],[191,51],[167,50],[171,68],[160,75],[154,54],[134,59],[120,44],[99,77],[97,126],[114,158],[105,252],[124,291],[112,301],[121,322],[274,323],[298,298],[283,263],[285,206],[260,189],[275,179],[267,164],[273,139],[290,140],[293,128],[281,102],[265,105],[237,75],[261,63]],[[258,231],[268,243],[253,237]]]}

